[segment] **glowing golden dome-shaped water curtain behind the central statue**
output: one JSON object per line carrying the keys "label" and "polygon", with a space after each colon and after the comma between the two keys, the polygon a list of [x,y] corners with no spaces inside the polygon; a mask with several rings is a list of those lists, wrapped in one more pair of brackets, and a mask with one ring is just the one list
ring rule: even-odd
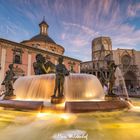
{"label": "glowing golden dome-shaped water curtain behind the central statue", "polygon": [[[48,100],[53,95],[55,75],[24,76],[16,80],[14,93],[17,99]],[[66,100],[103,99],[104,91],[96,76],[70,74],[65,78]]]}

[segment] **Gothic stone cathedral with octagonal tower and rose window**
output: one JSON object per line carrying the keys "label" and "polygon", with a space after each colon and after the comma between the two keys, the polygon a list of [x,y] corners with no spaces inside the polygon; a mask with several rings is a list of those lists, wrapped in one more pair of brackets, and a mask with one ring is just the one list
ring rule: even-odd
{"label": "Gothic stone cathedral with octagonal tower and rose window", "polygon": [[102,70],[102,73],[108,78],[106,59],[113,59],[118,65],[128,89],[140,87],[140,51],[134,49],[112,50],[112,42],[109,37],[98,37],[92,41],[92,61],[81,63],[81,73],[93,74],[100,79]]}

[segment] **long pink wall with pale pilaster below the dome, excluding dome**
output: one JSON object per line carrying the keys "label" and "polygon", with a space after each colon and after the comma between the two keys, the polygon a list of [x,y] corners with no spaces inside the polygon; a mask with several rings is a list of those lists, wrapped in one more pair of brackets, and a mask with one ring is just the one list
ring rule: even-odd
{"label": "long pink wall with pale pilaster below the dome, excluding dome", "polygon": [[[38,53],[41,53],[43,56],[45,56],[46,60],[49,60],[54,64],[58,63],[57,60],[58,60],[58,57],[60,56],[58,54],[50,53],[48,51],[44,51],[39,48],[36,49],[36,48],[28,47],[25,45],[21,45],[20,43],[14,43],[14,42],[2,39],[2,41],[0,40],[0,60],[2,56],[2,48],[5,49],[6,53],[5,53],[5,62],[3,62],[4,66],[2,66],[4,70],[0,70],[0,77],[1,77],[0,82],[3,81],[4,75],[6,71],[8,70],[9,64],[13,63],[13,57],[14,57],[13,50],[15,48],[22,50],[21,64],[14,63],[14,70],[21,76],[34,75],[33,63],[36,61],[36,55]],[[68,70],[70,70],[70,66],[73,65],[74,72],[79,73],[79,65],[80,65],[79,60],[64,56],[64,64],[66,65]]]}

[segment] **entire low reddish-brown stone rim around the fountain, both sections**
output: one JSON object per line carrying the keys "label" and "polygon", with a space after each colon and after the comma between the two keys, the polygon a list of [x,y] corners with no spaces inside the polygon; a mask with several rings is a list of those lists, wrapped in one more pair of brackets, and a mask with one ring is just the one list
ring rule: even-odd
{"label": "entire low reddish-brown stone rim around the fountain, both sections", "polygon": [[67,101],[63,106],[51,104],[49,101],[21,101],[2,100],[0,107],[13,108],[17,110],[39,110],[39,111],[64,111],[70,113],[84,113],[93,111],[112,111],[130,108],[129,102],[125,100],[110,101]]}

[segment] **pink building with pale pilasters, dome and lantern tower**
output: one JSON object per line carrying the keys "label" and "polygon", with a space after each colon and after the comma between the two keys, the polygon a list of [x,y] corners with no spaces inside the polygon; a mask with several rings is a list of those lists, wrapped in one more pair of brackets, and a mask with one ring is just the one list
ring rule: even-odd
{"label": "pink building with pale pilasters, dome and lantern tower", "polygon": [[[16,76],[34,75],[33,63],[38,53],[46,60],[57,64],[58,57],[64,54],[65,49],[49,37],[49,25],[44,20],[39,27],[38,35],[21,43],[0,38],[0,82],[3,81],[9,64],[14,64]],[[71,72],[80,72],[80,62],[75,58],[64,56],[64,64]]]}

